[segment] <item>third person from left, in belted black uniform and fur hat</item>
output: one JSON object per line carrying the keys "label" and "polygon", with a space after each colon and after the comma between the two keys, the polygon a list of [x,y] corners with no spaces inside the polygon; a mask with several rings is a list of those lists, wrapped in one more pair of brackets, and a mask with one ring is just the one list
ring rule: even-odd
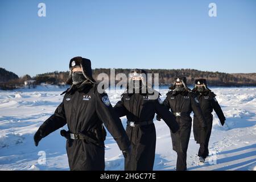
{"label": "third person from left, in belted black uniform and fur hat", "polygon": [[[177,152],[177,171],[187,170],[187,149],[188,142],[191,134],[192,118],[191,112],[197,116],[199,121],[199,128],[204,130],[206,128],[205,119],[200,109],[199,101],[195,94],[187,87],[185,77],[176,77],[174,85],[170,86],[171,89],[166,94],[166,99],[163,105],[171,109],[174,113],[180,129],[177,133],[171,133],[172,148]],[[162,117],[156,117],[159,121]]]}

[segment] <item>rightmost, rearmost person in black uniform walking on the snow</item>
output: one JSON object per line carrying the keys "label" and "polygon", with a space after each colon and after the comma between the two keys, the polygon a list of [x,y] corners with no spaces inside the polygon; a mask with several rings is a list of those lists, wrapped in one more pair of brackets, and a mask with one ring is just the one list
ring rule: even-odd
{"label": "rightmost, rearmost person in black uniform walking on the snow", "polygon": [[200,143],[200,148],[198,152],[200,162],[204,162],[205,158],[207,158],[207,156],[209,155],[208,144],[210,139],[210,133],[212,131],[213,109],[216,112],[218,118],[220,119],[222,126],[224,125],[226,118],[221,110],[220,105],[218,104],[218,101],[215,98],[216,94],[214,94],[207,87],[207,81],[205,79],[197,79],[195,81],[195,88],[193,88],[192,92],[196,94],[197,100],[199,100],[200,102],[200,107],[203,111],[204,118],[207,121],[206,134],[202,134],[202,131],[199,130],[199,119],[197,118],[197,115],[194,115],[193,133],[196,142]]}

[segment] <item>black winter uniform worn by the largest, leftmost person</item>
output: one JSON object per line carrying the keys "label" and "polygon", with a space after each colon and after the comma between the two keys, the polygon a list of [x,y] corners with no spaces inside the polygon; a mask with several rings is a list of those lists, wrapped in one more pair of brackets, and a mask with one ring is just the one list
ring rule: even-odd
{"label": "black winter uniform worn by the largest, leftmost person", "polygon": [[99,139],[96,134],[96,131],[102,131],[102,122],[121,150],[130,146],[129,138],[108,100],[108,95],[98,93],[96,84],[87,84],[83,89],[76,89],[73,85],[64,93],[63,102],[40,126],[42,137],[66,124],[71,133],[89,135],[99,144],[86,139],[67,140],[69,167],[71,170],[104,170],[104,140]]}

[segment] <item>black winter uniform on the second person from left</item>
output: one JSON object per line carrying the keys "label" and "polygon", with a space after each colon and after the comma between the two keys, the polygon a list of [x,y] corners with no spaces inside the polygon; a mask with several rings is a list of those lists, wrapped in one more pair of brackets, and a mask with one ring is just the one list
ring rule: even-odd
{"label": "black winter uniform on the second person from left", "polygon": [[[118,117],[126,115],[127,121],[137,124],[152,121],[157,113],[175,133],[179,129],[179,125],[177,125],[173,114],[162,105],[159,98],[150,99],[150,97],[149,93],[124,93],[121,101],[114,106],[114,110],[118,113]],[[156,144],[154,123],[135,127],[127,125],[126,133],[131,141],[131,155],[130,158],[125,159],[125,169],[152,171]]]}

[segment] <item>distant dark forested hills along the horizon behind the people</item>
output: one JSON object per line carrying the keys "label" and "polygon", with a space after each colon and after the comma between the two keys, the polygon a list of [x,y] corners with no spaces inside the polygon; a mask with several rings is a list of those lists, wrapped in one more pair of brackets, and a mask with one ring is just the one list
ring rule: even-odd
{"label": "distant dark forested hills along the horizon behind the people", "polygon": [[[146,69],[148,73],[159,73],[159,84],[170,85],[174,82],[174,77],[187,77],[188,85],[194,85],[195,79],[206,78],[209,86],[256,86],[256,73],[221,73],[205,72],[196,69]],[[115,75],[125,73],[128,75],[130,69],[115,69]],[[97,80],[100,73],[106,73],[110,78],[110,69],[96,68],[93,70],[93,77]],[[51,72],[30,77],[25,75],[18,77],[13,72],[0,68],[0,89],[13,89],[24,86],[24,81],[35,80],[33,85],[42,83],[63,85],[67,80],[69,72]],[[118,82],[119,80],[116,80]]]}

